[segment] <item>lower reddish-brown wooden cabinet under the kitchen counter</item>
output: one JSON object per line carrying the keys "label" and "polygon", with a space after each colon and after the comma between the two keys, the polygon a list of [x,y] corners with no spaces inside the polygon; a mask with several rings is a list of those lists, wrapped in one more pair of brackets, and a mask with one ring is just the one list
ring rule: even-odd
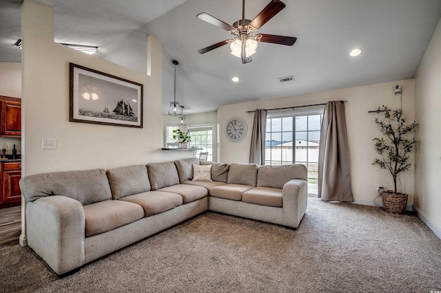
{"label": "lower reddish-brown wooden cabinet under the kitchen counter", "polygon": [[1,198],[0,208],[19,206],[21,204],[21,162],[0,163]]}

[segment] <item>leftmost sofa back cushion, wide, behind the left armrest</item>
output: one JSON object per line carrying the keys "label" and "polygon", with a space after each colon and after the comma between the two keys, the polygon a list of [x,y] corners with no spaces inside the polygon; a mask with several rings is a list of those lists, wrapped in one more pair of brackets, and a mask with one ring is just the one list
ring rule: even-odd
{"label": "leftmost sofa back cushion, wide, behind the left armrest", "polygon": [[21,178],[20,188],[26,202],[50,195],[70,197],[83,206],[112,199],[104,169],[29,175]]}

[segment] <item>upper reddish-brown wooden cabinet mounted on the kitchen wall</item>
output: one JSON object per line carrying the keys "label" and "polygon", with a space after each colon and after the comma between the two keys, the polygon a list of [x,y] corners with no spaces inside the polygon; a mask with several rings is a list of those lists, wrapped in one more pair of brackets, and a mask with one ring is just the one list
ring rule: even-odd
{"label": "upper reddish-brown wooden cabinet mounted on the kitchen wall", "polygon": [[21,100],[0,96],[0,135],[21,137]]}

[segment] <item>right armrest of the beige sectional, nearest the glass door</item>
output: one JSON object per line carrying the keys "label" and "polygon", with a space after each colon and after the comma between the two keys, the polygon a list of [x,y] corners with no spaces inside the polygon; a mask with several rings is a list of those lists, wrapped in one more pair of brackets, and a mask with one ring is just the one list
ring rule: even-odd
{"label": "right armrest of the beige sectional, nearest the glass door", "polygon": [[293,179],[283,186],[283,222],[297,228],[307,208],[308,188],[305,180]]}

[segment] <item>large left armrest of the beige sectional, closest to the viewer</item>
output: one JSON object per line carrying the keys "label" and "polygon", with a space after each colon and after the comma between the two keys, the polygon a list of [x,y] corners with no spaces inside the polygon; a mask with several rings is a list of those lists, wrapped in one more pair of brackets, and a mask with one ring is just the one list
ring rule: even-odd
{"label": "large left armrest of the beige sectional, closest to the viewer", "polygon": [[28,245],[56,272],[84,263],[84,211],[70,197],[41,197],[26,206]]}

